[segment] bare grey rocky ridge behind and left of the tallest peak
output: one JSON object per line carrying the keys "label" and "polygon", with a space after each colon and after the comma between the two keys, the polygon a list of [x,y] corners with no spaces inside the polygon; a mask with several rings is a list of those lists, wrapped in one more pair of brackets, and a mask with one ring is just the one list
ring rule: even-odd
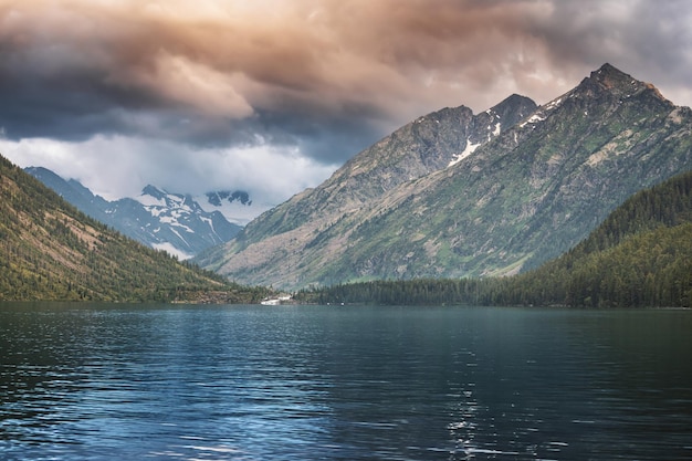
{"label": "bare grey rocky ridge behind and left of the tallest peak", "polygon": [[[496,119],[512,125],[524,112],[535,107],[530,98],[512,95],[476,116],[470,108],[459,106],[419,117],[356,155],[318,187],[306,189],[258,217],[239,234],[239,240],[252,241],[255,228],[285,232],[316,214],[345,213],[363,207],[400,182],[448,167],[474,140],[478,146],[492,139],[502,129],[497,130]],[[476,123],[476,119],[482,122]],[[447,132],[439,136],[442,121],[448,122]],[[451,130],[450,125],[462,129]],[[290,218],[284,216],[286,207],[301,201],[308,202],[306,208],[312,208],[308,214],[294,210],[289,213]]]}

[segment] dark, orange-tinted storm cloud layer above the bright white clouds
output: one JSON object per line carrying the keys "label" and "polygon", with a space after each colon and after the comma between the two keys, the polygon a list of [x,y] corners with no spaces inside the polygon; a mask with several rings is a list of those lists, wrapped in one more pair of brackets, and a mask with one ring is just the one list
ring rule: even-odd
{"label": "dark, orange-tinted storm cloud layer above the bright white clouds", "polygon": [[[104,114],[120,108],[162,116],[157,136],[176,119],[196,121],[186,128],[192,137],[220,136],[233,121],[300,124],[291,136],[325,123],[385,133],[421,113],[481,111],[511,93],[545,102],[604,62],[647,78],[633,69],[644,57],[626,52],[643,40],[647,14],[671,20],[669,32],[649,28],[650,43],[689,35],[680,8],[587,3],[0,0],[0,92],[20,92],[10,105],[63,107],[84,126],[74,129],[108,123]],[[659,73],[648,80],[674,75]]]}

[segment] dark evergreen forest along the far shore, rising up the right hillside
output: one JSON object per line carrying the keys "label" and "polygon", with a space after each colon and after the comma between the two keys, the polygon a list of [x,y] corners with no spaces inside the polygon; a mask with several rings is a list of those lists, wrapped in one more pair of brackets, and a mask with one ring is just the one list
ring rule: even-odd
{"label": "dark evergreen forest along the far shore, rising up the right hillside", "polygon": [[495,279],[378,281],[303,291],[319,303],[692,306],[692,172],[643,190],[537,270]]}

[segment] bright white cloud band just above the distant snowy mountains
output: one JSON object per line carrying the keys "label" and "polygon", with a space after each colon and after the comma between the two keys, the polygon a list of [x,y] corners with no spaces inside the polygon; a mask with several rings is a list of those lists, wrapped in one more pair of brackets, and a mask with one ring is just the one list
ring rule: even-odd
{"label": "bright white cloud band just above the distant snowy mountains", "polygon": [[135,197],[151,184],[192,195],[242,189],[258,203],[279,205],[317,186],[337,168],[318,164],[293,147],[197,149],[125,136],[95,136],[82,143],[0,138],[0,153],[22,168],[41,166],[77,179],[108,200]]}

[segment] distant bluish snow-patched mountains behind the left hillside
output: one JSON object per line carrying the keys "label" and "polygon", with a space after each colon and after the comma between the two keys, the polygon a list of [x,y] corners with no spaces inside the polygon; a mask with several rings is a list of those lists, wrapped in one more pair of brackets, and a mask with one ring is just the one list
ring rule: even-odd
{"label": "distant bluish snow-patched mountains behind the left hillside", "polygon": [[64,180],[49,169],[30,167],[25,171],[92,218],[180,259],[227,242],[241,229],[220,211],[205,210],[190,195],[147,186],[136,198],[107,201],[78,181]]}

